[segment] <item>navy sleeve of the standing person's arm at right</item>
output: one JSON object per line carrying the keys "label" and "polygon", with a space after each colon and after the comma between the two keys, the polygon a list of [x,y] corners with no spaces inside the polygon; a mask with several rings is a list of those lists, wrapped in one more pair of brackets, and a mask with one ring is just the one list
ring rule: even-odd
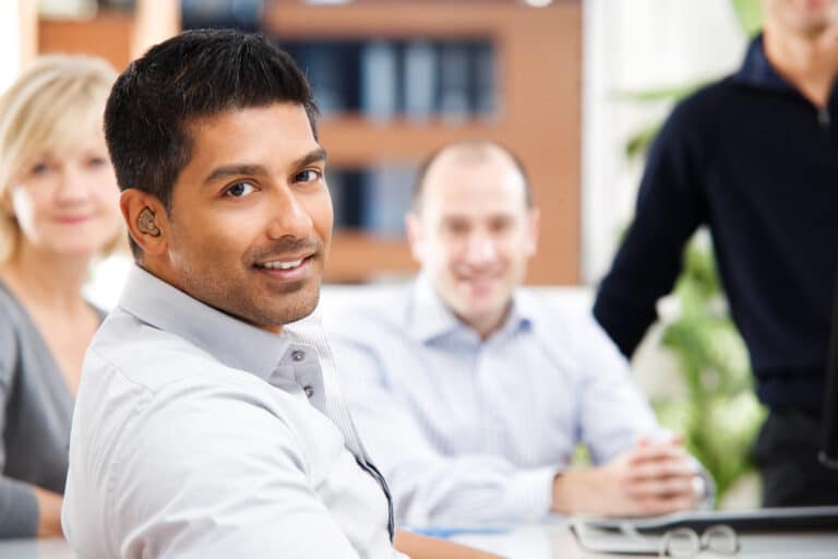
{"label": "navy sleeve of the standing person's arm at right", "polygon": [[706,216],[702,180],[707,173],[706,119],[695,99],[675,107],[656,138],[628,227],[602,280],[594,316],[631,357],[657,317],[658,299],[672,289],[684,245]]}

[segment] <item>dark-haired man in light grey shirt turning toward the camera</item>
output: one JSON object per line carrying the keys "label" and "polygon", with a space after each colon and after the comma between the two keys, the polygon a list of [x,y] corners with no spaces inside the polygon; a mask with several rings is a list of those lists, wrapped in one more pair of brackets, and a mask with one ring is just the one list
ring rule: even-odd
{"label": "dark-haired man in light grey shirt turning toward the camera", "polygon": [[[85,358],[64,533],[82,557],[393,558],[314,309],[332,236],[316,107],[266,38],[194,31],[105,111],[136,266]],[[490,557],[397,533],[414,559]]]}

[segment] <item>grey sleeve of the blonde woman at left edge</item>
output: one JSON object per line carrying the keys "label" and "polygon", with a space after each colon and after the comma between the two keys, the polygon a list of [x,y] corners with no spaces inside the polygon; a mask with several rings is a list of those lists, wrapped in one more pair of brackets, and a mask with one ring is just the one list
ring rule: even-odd
{"label": "grey sleeve of the blonde woman at left edge", "polygon": [[[0,305],[0,310],[2,309]],[[0,432],[5,432],[7,406],[19,367],[17,342],[9,322],[10,313],[0,319]],[[0,437],[0,472],[5,472],[4,437]],[[38,502],[32,486],[0,476],[0,538],[35,537],[38,531]]]}

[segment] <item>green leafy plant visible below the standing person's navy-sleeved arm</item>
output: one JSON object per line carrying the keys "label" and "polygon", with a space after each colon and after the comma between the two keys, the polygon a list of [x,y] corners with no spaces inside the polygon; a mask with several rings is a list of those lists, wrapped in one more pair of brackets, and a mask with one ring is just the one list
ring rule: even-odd
{"label": "green leafy plant visible below the standing person's navy-sleeved arm", "polygon": [[686,436],[721,499],[753,468],[750,449],[765,413],[752,390],[747,350],[731,321],[708,242],[694,239],[673,292],[677,317],[661,334],[685,384],[684,400],[656,402],[661,421]]}

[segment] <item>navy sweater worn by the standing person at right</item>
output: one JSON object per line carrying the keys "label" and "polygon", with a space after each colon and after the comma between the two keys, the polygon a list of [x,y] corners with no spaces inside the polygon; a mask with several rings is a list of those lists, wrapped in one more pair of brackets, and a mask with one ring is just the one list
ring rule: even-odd
{"label": "navy sweater worn by the standing person at right", "polygon": [[[634,223],[594,313],[625,355],[707,224],[759,399],[822,406],[838,271],[838,94],[818,110],[757,37],[742,69],[695,93],[658,134]],[[838,124],[838,120],[836,120]]]}

